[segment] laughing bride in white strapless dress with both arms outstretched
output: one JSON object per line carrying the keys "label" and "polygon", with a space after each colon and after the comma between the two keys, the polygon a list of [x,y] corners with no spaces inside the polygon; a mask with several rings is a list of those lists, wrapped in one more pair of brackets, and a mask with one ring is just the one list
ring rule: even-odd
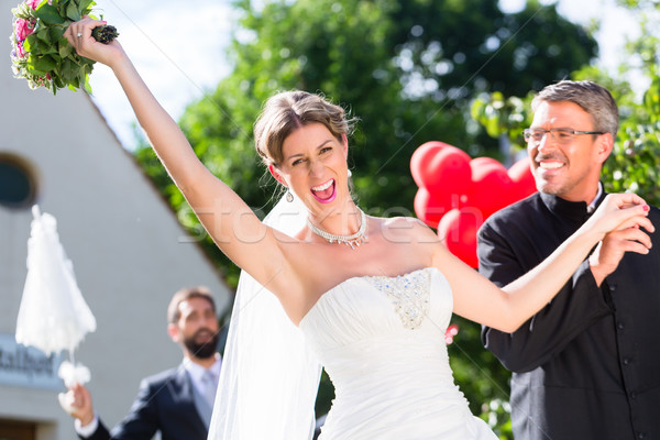
{"label": "laughing bride in white strapless dress with both arms outstretched", "polygon": [[[501,289],[454,257],[420,221],[365,216],[349,191],[352,121],[317,95],[288,91],[266,102],[254,129],[257,153],[286,187],[285,199],[295,196],[306,208],[306,222],[282,232],[260,221],[198,161],[121,45],[103,45],[90,36],[98,25],[86,18],[65,36],[78,54],[113,70],[156,154],[209,234],[274,295],[301,332],[307,352],[330,375],[337,397],[321,433],[324,440],[495,439],[470,414],[453,384],[443,341],[451,314],[513,332],[552,299],[609,231],[653,230],[641,198],[610,195],[548,260]],[[642,244],[650,246],[648,240]],[[234,349],[249,351],[249,345],[240,342]],[[235,369],[231,362],[229,353],[226,371]],[[240,408],[241,386],[248,385],[221,384],[209,437],[251,440],[250,425],[265,425],[265,432],[272,432],[267,438],[296,438],[246,419],[241,410],[219,415]],[[300,414],[309,416],[311,408]],[[309,438],[306,417],[294,417],[290,425],[302,426]]]}

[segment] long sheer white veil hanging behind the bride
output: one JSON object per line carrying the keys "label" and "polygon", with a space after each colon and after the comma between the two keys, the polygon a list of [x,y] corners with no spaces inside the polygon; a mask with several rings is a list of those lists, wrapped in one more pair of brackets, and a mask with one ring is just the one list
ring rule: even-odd
{"label": "long sheer white veil hanging behind the bride", "polygon": [[[264,223],[295,235],[307,218],[283,197]],[[321,365],[277,298],[242,272],[209,440],[309,440]]]}

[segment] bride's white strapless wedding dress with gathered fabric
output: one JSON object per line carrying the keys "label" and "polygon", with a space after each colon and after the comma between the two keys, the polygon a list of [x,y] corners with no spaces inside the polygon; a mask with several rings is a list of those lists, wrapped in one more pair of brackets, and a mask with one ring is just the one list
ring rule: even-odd
{"label": "bride's white strapless wedding dress with gathered fabric", "polygon": [[435,267],[354,277],[300,321],[336,388],[322,440],[496,440],[454,385],[444,331],[449,283]]}

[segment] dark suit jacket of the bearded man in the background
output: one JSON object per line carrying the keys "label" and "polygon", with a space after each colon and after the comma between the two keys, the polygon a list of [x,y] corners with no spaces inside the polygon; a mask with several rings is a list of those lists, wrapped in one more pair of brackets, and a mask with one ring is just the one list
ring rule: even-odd
{"label": "dark suit jacket of the bearded man in the background", "polygon": [[206,440],[208,429],[195,406],[193,382],[183,366],[146,377],[129,415],[108,432],[99,419],[92,440]]}

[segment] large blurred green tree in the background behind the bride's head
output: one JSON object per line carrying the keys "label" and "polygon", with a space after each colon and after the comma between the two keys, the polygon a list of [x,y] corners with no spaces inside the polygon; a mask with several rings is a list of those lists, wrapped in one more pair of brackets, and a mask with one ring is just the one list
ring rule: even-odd
{"label": "large blurred green tree in the background behind the bride's head", "polygon": [[[258,8],[239,0],[235,8],[241,20],[228,53],[233,72],[188,107],[180,125],[202,162],[257,213],[271,207],[275,190],[256,161],[252,124],[276,90],[323,92],[359,117],[349,158],[359,202],[374,215],[413,215],[417,188],[409,161],[421,143],[497,154],[497,142],[470,118],[474,94],[525,94],[587,64],[597,50],[554,4],[537,1],[516,14],[482,0],[279,0]],[[560,40],[551,36],[557,32]],[[235,267],[206,238],[151,150],[136,156],[235,283]],[[465,322],[461,331],[454,346],[464,352],[455,352],[453,365],[481,413],[483,402],[508,399],[506,377],[493,386],[490,377],[472,374],[472,360],[486,371],[497,363],[483,359],[490,354],[477,326]]]}

